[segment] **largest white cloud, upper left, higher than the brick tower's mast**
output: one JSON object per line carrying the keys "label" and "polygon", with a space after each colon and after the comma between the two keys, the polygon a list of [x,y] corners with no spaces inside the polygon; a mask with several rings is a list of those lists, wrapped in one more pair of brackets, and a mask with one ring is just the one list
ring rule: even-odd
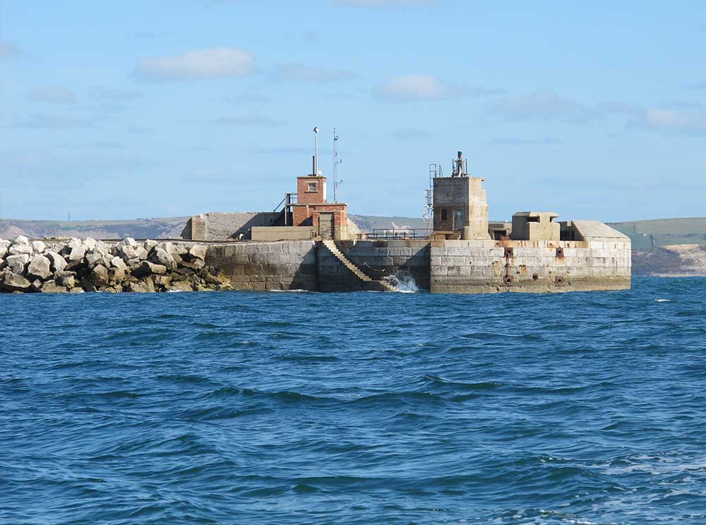
{"label": "largest white cloud, upper left, higher than the brick tower's mast", "polygon": [[253,55],[234,47],[215,47],[187,52],[181,56],[146,59],[137,75],[153,82],[227,78],[251,75],[256,71]]}

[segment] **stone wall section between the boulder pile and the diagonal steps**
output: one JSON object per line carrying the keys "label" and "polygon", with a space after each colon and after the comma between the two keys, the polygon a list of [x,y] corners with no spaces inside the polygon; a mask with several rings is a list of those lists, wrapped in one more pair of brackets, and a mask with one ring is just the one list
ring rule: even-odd
{"label": "stone wall section between the boulder pile and the diagonal steps", "polygon": [[313,241],[211,245],[205,261],[237,290],[317,289]]}

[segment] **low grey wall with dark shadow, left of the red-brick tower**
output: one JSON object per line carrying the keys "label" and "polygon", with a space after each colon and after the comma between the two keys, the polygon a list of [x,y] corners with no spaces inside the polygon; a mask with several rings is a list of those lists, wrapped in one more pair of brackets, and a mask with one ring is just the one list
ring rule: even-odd
{"label": "low grey wall with dark shadow, left of the red-brick tower", "polygon": [[254,226],[277,226],[281,212],[205,213],[190,217],[181,239],[193,241],[236,241],[250,239]]}

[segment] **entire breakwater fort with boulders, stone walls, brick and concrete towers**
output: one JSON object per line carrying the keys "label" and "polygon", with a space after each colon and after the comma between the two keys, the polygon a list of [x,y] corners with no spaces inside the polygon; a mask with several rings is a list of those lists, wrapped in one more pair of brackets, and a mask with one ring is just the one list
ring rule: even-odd
{"label": "entire breakwater fort with boulders, stone walls, brick and concrete towers", "polygon": [[523,211],[489,222],[458,152],[429,168],[429,227],[359,231],[316,169],[273,212],[191,217],[181,239],[0,240],[0,291],[561,292],[630,288],[630,239],[594,220]]}

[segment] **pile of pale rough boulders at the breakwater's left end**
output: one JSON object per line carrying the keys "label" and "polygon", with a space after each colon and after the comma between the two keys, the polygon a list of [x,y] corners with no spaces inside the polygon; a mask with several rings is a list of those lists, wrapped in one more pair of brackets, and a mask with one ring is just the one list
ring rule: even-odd
{"label": "pile of pale rough boulders at the breakwater's left end", "polygon": [[232,289],[206,265],[206,246],[125,239],[104,243],[0,239],[0,292],[207,291]]}

